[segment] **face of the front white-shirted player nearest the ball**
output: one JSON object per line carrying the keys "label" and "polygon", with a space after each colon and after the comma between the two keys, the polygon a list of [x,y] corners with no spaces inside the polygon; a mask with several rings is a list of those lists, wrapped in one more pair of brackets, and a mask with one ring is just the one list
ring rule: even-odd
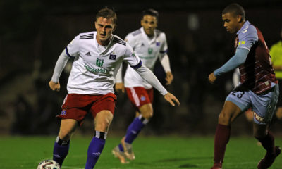
{"label": "face of the front white-shirted player nearest the ball", "polygon": [[97,42],[99,44],[105,45],[109,42],[111,34],[114,32],[116,25],[113,23],[111,18],[107,19],[99,17],[95,22],[95,27],[97,30]]}

